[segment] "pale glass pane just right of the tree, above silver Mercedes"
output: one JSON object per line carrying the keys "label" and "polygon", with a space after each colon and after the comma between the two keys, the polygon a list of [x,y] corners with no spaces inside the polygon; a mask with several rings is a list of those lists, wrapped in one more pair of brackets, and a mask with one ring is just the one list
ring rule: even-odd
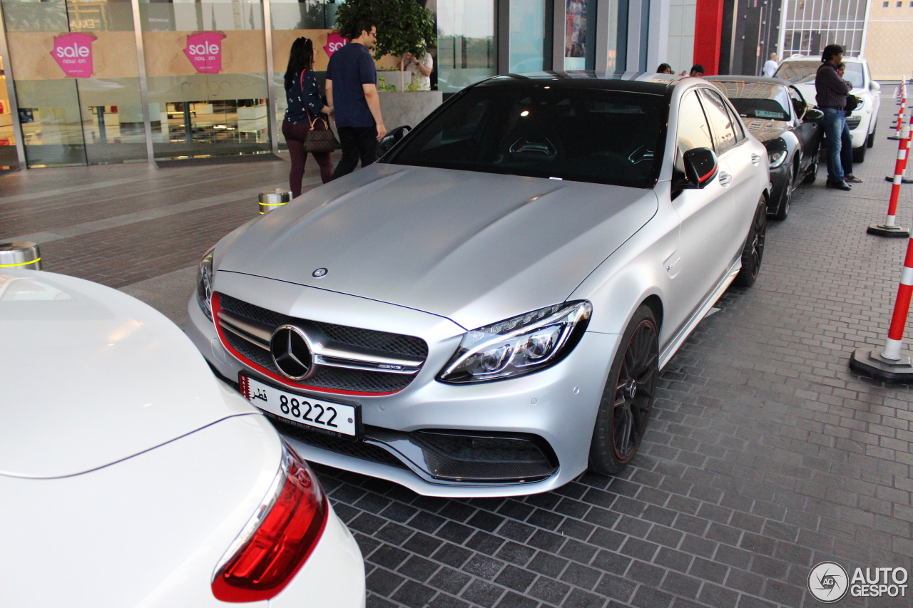
{"label": "pale glass pane just right of the tree, above silver Mercedes", "polygon": [[495,75],[494,0],[437,3],[437,88],[456,93]]}

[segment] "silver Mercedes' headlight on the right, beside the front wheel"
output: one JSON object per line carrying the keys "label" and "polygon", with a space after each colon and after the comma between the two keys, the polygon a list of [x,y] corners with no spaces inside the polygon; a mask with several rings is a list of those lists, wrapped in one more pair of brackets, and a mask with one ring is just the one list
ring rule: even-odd
{"label": "silver Mercedes' headlight on the right, beside the front wheel", "polygon": [[586,300],[563,302],[467,331],[437,379],[485,383],[538,372],[572,351],[592,312]]}

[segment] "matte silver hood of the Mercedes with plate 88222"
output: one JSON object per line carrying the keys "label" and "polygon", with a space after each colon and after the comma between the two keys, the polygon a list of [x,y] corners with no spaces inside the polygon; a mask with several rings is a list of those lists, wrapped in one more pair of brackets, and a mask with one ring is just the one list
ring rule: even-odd
{"label": "matte silver hood of the Mercedes with plate 88222", "polygon": [[373,164],[265,215],[216,258],[218,272],[376,299],[472,329],[563,301],[656,208],[643,189]]}

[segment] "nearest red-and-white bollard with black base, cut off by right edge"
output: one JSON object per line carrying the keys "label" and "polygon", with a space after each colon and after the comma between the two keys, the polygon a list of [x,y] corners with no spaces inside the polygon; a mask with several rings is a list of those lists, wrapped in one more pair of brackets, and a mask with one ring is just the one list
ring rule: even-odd
{"label": "nearest red-and-white bollard with black base, cut off by right edge", "polygon": [[887,330],[885,350],[856,349],[850,357],[850,369],[862,375],[871,376],[884,383],[913,382],[913,365],[908,355],[902,353],[904,329],[907,327],[907,315],[910,309],[910,298],[913,297],[913,238],[907,243],[907,256],[900,274],[900,285],[897,287],[897,299],[894,302],[894,313],[891,315],[891,326]]}

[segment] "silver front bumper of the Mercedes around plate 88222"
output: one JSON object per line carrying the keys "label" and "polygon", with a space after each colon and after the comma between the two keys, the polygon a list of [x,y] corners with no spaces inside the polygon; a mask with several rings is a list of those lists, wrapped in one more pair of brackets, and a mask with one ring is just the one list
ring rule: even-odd
{"label": "silver front bumper of the Mercedes around plate 88222", "polygon": [[[333,297],[351,298],[339,294]],[[238,372],[262,379],[225,350],[215,325],[205,317],[195,297],[188,303],[188,317],[187,335],[218,374],[234,382]],[[345,397],[346,402],[361,406],[367,441],[360,445],[383,450],[386,458],[363,451],[343,453],[345,450],[332,449],[326,443],[321,446],[320,441],[301,441],[299,434],[284,430],[284,425],[276,426],[307,460],[394,481],[425,496],[490,497],[544,492],[571,481],[587,467],[596,411],[618,342],[616,334],[586,332],[576,348],[551,368],[507,381],[454,386],[438,383],[434,376],[456,348],[456,341],[448,340],[442,345],[428,340],[426,369],[404,390],[382,396]],[[338,399],[329,393],[310,393]],[[547,444],[546,451],[551,450],[554,472],[539,480],[513,483],[460,481],[453,476],[435,478],[434,471],[428,470],[431,467],[427,458],[423,460],[415,443],[410,446],[404,436],[415,436],[427,429],[533,435]]]}

